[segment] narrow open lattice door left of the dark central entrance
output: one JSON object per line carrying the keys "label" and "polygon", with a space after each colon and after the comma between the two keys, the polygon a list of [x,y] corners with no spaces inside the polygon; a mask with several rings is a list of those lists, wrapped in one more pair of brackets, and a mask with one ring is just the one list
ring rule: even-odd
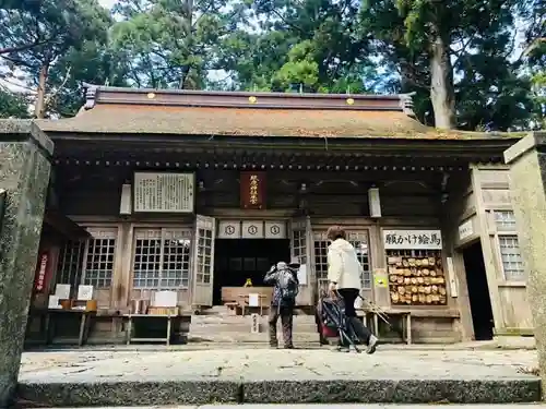
{"label": "narrow open lattice door left of the dark central entrance", "polygon": [[195,216],[195,240],[193,243],[193,296],[192,304],[212,306],[214,276],[214,217]]}

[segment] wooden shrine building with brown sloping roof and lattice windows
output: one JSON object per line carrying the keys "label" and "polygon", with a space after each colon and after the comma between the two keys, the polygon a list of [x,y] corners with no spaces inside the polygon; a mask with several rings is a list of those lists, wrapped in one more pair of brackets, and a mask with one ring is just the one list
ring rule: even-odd
{"label": "wooden shrine building with brown sloping roof and lattice windows", "polygon": [[90,233],[50,246],[54,284],[93,285],[99,308],[157,289],[218,304],[293,258],[312,306],[336,224],[366,297],[411,312],[414,340],[532,327],[502,165],[521,135],[427,128],[407,95],[91,85],[76,117],[38,125],[58,210]]}

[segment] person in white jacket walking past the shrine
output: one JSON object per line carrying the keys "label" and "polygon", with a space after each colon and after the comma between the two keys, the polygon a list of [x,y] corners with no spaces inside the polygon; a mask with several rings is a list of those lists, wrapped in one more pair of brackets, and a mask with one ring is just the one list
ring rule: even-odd
{"label": "person in white jacket walking past the shrine", "polygon": [[[345,230],[341,226],[328,229],[327,238],[332,243],[328,248],[328,280],[330,291],[337,290],[345,304],[345,316],[356,318],[355,301],[360,293],[363,266],[358,261],[355,248],[346,240]],[[360,333],[368,349],[366,352],[376,351],[377,337],[365,327],[359,326]]]}

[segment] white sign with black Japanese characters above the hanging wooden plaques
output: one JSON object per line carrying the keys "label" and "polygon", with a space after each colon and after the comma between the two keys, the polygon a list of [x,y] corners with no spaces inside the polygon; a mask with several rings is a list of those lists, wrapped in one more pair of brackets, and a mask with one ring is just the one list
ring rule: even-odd
{"label": "white sign with black Japanese characters above the hanging wooden plaques", "polygon": [[441,250],[440,230],[383,230],[384,250]]}

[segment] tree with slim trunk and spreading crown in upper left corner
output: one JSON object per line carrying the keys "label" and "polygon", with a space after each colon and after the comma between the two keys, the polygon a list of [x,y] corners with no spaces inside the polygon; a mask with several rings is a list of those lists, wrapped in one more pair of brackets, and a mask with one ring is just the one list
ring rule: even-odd
{"label": "tree with slim trunk and spreading crown in upper left corner", "polygon": [[[110,15],[97,0],[5,0],[0,8],[1,57],[37,86],[35,117],[46,113],[48,75],[59,58],[85,41],[107,39]],[[69,73],[66,73],[68,75]]]}

